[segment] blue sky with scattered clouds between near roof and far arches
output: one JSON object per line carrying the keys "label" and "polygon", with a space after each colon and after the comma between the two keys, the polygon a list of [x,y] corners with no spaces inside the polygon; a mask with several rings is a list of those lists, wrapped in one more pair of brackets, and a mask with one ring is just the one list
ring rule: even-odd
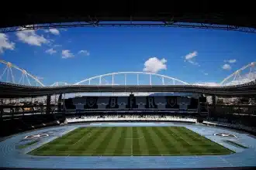
{"label": "blue sky with scattered clouds between near roof and far arches", "polygon": [[122,71],[220,83],[256,61],[255,45],[256,34],[211,29],[44,29],[0,33],[0,59],[46,85]]}

